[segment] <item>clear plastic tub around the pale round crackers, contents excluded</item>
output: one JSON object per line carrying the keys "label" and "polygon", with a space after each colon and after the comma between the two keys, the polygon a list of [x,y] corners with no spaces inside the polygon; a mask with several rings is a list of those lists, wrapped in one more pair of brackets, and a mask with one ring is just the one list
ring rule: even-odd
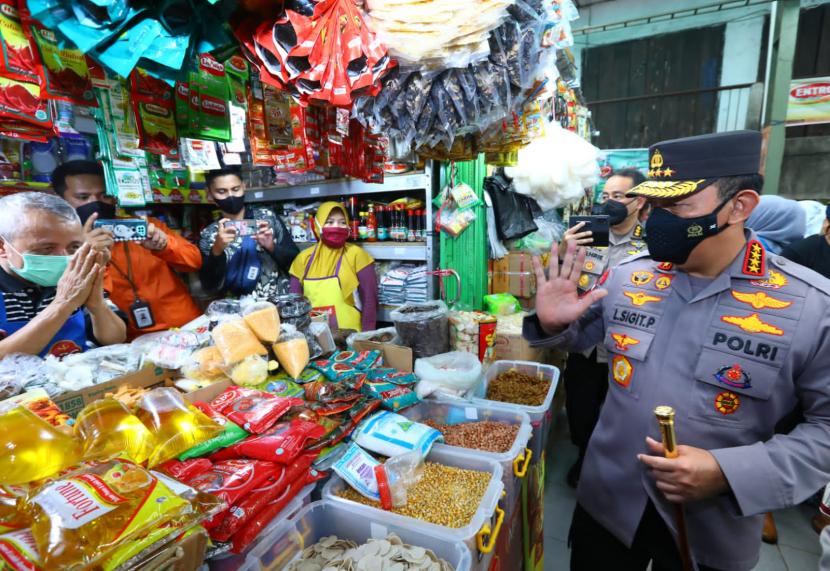
{"label": "clear plastic tub around the pale round crackers, contents excluded", "polygon": [[[283,569],[299,554],[323,537],[336,535],[362,544],[370,538],[396,534],[409,545],[431,549],[456,571],[469,571],[470,550],[463,543],[443,537],[404,521],[392,521],[382,510],[353,509],[351,502],[322,500],[301,509],[293,518],[280,522],[248,553],[240,571]],[[408,518],[407,518],[408,519]]]}

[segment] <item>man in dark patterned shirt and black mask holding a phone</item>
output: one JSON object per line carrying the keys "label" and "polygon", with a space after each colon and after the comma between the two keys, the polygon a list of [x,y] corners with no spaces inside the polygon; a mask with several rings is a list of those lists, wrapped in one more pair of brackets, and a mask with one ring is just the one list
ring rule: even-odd
{"label": "man in dark patterned shirt and black mask holding a phone", "polygon": [[268,299],[289,293],[288,270],[300,253],[274,211],[245,205],[245,183],[238,169],[205,175],[208,194],[221,217],[202,230],[199,274],[207,291]]}

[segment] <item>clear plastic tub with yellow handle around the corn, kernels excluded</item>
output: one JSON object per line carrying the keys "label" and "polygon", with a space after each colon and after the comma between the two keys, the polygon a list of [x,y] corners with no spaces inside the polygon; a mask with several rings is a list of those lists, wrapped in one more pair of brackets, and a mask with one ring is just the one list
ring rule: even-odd
{"label": "clear plastic tub with yellow handle around the corn, kernels excluded", "polygon": [[[383,521],[390,525],[408,526],[425,535],[437,535],[450,542],[460,542],[467,546],[472,554],[472,569],[489,569],[493,559],[494,547],[504,523],[504,510],[499,507],[502,499],[504,484],[502,483],[501,464],[491,458],[482,456],[475,450],[466,450],[455,447],[433,446],[426,458],[427,462],[434,462],[444,466],[453,466],[464,470],[475,470],[489,475],[487,489],[478,504],[475,514],[470,521],[461,527],[447,527],[429,523],[422,519],[384,511],[342,498],[337,494],[348,489],[348,484],[339,476],[332,475],[323,488],[323,499],[340,505],[349,506],[354,513],[354,521],[360,517],[383,517]],[[446,512],[451,506],[448,500],[442,505],[435,505],[435,510]]]}

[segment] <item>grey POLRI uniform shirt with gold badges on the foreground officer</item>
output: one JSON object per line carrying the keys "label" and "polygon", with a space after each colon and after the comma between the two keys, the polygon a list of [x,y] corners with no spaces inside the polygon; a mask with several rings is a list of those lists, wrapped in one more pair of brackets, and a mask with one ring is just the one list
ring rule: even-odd
{"label": "grey POLRI uniform shirt with gold badges on the foreground officer", "polygon": [[[719,569],[751,569],[761,514],[830,480],[830,281],[747,236],[696,292],[686,273],[643,254],[614,268],[609,295],[561,334],[547,336],[535,316],[524,324],[534,347],[609,351],[579,503],[629,546],[649,499],[676,533],[674,508],[637,460],[646,436],[660,440],[654,408],[673,406],[678,442],[711,451],[731,488],[685,505],[696,561]],[[805,422],[775,435],[796,403]]]}

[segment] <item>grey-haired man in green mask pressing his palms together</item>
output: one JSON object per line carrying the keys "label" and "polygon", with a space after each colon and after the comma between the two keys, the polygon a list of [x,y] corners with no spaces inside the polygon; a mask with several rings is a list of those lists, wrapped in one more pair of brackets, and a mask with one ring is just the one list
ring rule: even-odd
{"label": "grey-haired man in green mask pressing his palms together", "polygon": [[88,341],[122,343],[126,323],[105,299],[104,267],[61,198],[0,199],[0,357],[60,357],[84,351]]}

